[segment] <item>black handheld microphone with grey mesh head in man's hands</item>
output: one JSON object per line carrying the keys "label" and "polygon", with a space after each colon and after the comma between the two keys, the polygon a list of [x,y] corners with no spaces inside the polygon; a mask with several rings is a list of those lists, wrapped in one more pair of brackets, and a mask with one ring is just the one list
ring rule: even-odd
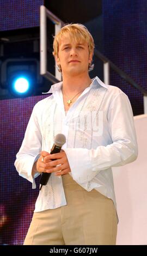
{"label": "black handheld microphone with grey mesh head in man's hands", "polygon": [[[54,138],[54,144],[53,144],[53,147],[51,149],[51,153],[50,154],[59,153],[61,148],[62,148],[62,146],[65,144],[65,142],[66,142],[65,136],[62,133],[57,134],[55,136],[55,138]],[[54,161],[54,160],[56,160],[56,159],[53,159],[52,161]],[[50,176],[51,176],[51,173],[42,173],[41,174],[41,178],[40,178],[41,186],[40,186],[39,190],[41,190],[41,187],[43,185],[47,184],[47,181],[50,178]]]}

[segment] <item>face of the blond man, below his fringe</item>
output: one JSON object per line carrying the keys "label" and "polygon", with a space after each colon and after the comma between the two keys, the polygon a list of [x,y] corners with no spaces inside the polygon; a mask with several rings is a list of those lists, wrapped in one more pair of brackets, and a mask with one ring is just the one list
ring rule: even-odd
{"label": "face of the blond man, below his fringe", "polygon": [[93,53],[89,54],[87,43],[71,41],[69,36],[62,36],[56,62],[62,68],[63,75],[87,74]]}

